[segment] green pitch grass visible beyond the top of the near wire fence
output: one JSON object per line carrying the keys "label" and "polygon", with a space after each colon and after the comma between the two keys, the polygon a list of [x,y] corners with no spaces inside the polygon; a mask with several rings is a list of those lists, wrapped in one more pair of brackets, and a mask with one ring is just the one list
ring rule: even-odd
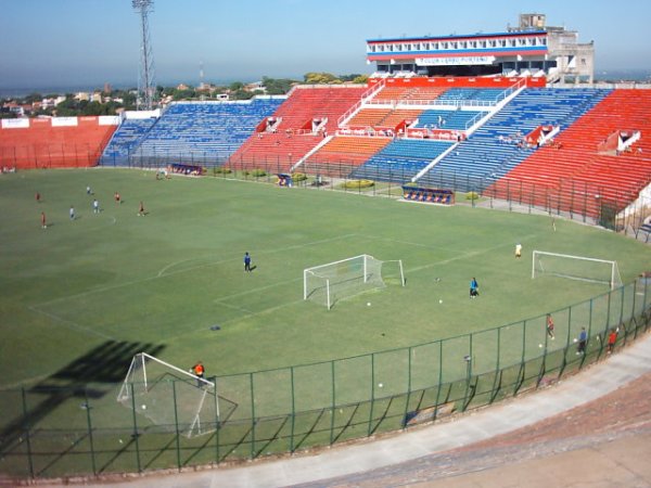
{"label": "green pitch grass visible beyond the top of the near wire fence", "polygon": [[[141,170],[7,175],[0,201],[2,387],[42,381],[106,342],[228,375],[477,332],[608,291],[532,280],[533,249],[616,260],[624,283],[651,265],[648,246],[563,220],[554,231],[549,216]],[[331,310],[303,299],[305,268],[360,254],[401,259],[407,285]],[[471,300],[473,277],[481,296]],[[114,367],[104,373],[119,381],[128,361]]]}

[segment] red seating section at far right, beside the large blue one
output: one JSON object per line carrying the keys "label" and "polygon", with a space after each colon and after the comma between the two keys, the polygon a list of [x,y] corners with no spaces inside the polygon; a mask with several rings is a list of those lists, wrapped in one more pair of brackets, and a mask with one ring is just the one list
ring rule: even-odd
{"label": "red seating section at far right, beside the large blue one", "polygon": [[604,206],[620,211],[651,182],[651,140],[624,151],[600,151],[610,134],[651,131],[649,90],[613,90],[601,103],[562,131],[553,144],[536,151],[489,189],[497,197],[519,198],[599,216]]}

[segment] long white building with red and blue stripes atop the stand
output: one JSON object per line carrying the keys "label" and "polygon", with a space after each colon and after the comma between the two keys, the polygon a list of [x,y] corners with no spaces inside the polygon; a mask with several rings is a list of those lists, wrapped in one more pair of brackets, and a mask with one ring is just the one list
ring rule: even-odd
{"label": "long white building with red and blue stripes atop the stand", "polygon": [[373,77],[545,76],[548,82],[591,84],[595,46],[533,13],[501,33],[369,39],[367,63],[375,63]]}

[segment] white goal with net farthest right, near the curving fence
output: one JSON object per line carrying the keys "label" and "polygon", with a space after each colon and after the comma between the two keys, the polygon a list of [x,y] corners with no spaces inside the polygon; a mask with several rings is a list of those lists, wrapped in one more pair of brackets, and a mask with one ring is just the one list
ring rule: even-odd
{"label": "white goal with net farthest right, near the curving fence", "polygon": [[603,283],[611,290],[622,286],[617,261],[534,251],[532,278],[545,274],[590,283]]}

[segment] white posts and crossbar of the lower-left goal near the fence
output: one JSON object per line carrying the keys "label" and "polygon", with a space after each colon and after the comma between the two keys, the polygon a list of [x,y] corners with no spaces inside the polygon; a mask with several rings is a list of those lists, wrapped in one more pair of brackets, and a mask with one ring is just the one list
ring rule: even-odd
{"label": "white posts and crossbar of the lower-left goal near the fence", "polygon": [[201,389],[196,409],[194,410],[194,412],[192,414],[190,425],[187,429],[188,437],[192,437],[194,435],[194,432],[202,433],[201,411],[204,406],[206,396],[208,396],[208,394],[213,394],[217,397],[217,400],[215,401],[215,409],[216,409],[216,413],[217,413],[217,419],[220,418],[219,397],[217,396],[217,388],[216,388],[217,385],[214,382],[210,382],[203,377],[199,377],[188,371],[184,371],[180,368],[175,367],[174,364],[165,362],[158,358],[155,358],[154,356],[148,355],[146,352],[139,352],[136,356],[133,356],[133,358],[131,359],[131,364],[129,365],[129,370],[127,371],[125,381],[123,382],[122,388],[119,389],[119,393],[117,395],[117,401],[119,403],[127,406],[126,402],[130,401],[131,404],[129,404],[128,407],[132,408],[136,412],[140,412],[135,403],[133,382],[130,382],[129,378],[131,377],[132,372],[135,370],[141,369],[142,370],[142,382],[138,386],[139,386],[139,390],[140,390],[141,395],[146,396],[146,393],[150,390],[150,387],[153,387],[156,384],[156,382],[153,381],[153,378],[150,378],[148,376],[148,372],[146,372],[146,362],[148,361],[154,361],[154,362],[161,364],[164,369],[169,370],[171,373],[174,373],[177,376],[180,376],[180,380],[184,378],[184,380],[191,380],[192,382],[196,382],[195,388]]}

